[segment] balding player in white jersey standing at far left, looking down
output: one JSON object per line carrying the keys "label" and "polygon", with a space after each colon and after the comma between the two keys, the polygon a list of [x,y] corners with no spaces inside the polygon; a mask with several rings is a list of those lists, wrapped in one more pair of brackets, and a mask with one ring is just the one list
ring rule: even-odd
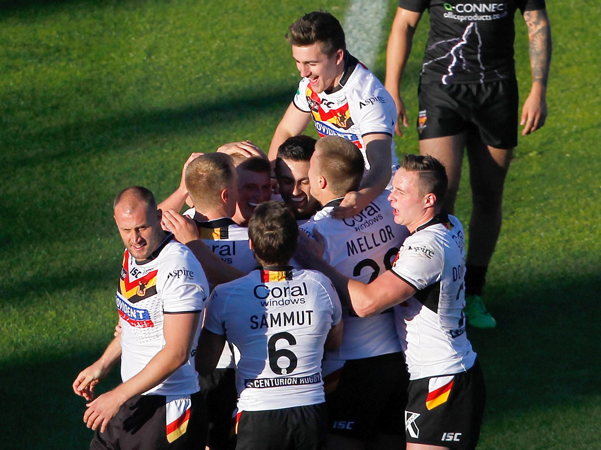
{"label": "balding player in white jersey standing at far left, looking down", "polygon": [[[90,448],[201,448],[194,355],[209,285],[192,252],[161,229],[149,190],[121,191],[114,214],[126,246],[116,298],[122,331],[73,382],[90,402],[84,414],[96,430]],[[96,384],[119,359],[123,383],[94,399]]]}

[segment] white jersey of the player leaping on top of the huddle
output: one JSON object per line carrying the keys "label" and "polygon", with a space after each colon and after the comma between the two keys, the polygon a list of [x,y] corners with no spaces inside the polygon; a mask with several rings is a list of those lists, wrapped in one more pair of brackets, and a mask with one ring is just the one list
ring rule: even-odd
{"label": "white jersey of the player leaping on top of the huddle", "polygon": [[[394,136],[397,109],[391,95],[349,52],[344,53],[344,73],[337,87],[317,94],[305,77],[299,82],[293,103],[302,112],[311,113],[319,136],[341,136],[352,141],[361,150],[366,171],[370,164],[363,137],[374,133]],[[391,153],[392,166],[397,167],[394,139]]]}

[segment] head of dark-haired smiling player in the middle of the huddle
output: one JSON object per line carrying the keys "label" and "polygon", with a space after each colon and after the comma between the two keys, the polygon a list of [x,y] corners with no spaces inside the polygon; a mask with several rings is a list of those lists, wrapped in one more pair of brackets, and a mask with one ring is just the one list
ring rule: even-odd
{"label": "head of dark-haired smiling player in the middle of the huddle", "polygon": [[278,148],[275,160],[275,178],[282,200],[301,226],[319,208],[309,186],[309,161],[315,151],[316,139],[305,134],[291,136]]}

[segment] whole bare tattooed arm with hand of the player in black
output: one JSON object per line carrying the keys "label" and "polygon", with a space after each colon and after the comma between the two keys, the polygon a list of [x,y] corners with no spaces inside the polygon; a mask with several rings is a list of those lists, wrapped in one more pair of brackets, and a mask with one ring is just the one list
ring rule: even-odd
{"label": "whole bare tattooed arm with hand of the player in black", "polygon": [[547,81],[551,67],[551,24],[546,10],[526,11],[532,89],[522,107],[522,135],[533,133],[545,125],[547,118]]}

